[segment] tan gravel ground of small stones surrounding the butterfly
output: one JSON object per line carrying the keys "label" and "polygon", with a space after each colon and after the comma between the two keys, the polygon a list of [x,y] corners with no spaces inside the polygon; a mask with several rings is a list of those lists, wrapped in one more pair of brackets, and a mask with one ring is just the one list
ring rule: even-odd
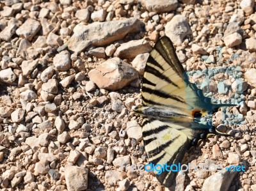
{"label": "tan gravel ground of small stones surrounding the butterfly", "polygon": [[[147,164],[140,84],[168,36],[206,96],[236,103],[212,117],[232,136],[191,148],[188,164],[246,172],[180,173],[170,190],[256,190],[255,2],[0,1],[0,188],[169,190]],[[231,129],[232,128],[232,129]]]}

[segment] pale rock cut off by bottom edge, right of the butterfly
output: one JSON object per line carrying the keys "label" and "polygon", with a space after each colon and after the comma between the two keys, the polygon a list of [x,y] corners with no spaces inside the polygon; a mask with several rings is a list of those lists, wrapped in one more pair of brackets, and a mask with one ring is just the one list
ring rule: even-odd
{"label": "pale rock cut off by bottom edge, right of the butterfly", "polygon": [[237,171],[230,172],[230,171],[221,171],[216,172],[209,178],[204,181],[204,185],[202,187],[202,191],[216,191],[216,190],[223,190],[227,191],[230,189],[230,185],[233,179],[237,175]]}

